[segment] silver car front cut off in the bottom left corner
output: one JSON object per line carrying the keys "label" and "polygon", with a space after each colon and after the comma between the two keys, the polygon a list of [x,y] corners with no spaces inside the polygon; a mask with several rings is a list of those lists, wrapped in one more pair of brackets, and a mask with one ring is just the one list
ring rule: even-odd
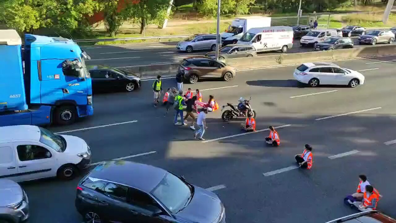
{"label": "silver car front cut off in the bottom left corner", "polygon": [[22,223],[29,218],[29,200],[19,184],[0,179],[0,198],[1,223]]}

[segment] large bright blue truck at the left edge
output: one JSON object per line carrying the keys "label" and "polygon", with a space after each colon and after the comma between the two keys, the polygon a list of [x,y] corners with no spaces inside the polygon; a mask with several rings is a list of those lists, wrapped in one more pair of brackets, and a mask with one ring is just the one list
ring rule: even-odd
{"label": "large bright blue truck at the left edge", "polygon": [[89,56],[72,40],[0,30],[0,126],[69,125],[93,114]]}

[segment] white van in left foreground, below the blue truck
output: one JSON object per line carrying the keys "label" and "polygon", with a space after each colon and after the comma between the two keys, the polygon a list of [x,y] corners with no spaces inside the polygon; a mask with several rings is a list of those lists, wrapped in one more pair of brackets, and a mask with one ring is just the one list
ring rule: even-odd
{"label": "white van in left foreground, below the blue truck", "polygon": [[89,146],[76,136],[55,135],[33,125],[0,127],[0,136],[0,178],[70,180],[91,164]]}

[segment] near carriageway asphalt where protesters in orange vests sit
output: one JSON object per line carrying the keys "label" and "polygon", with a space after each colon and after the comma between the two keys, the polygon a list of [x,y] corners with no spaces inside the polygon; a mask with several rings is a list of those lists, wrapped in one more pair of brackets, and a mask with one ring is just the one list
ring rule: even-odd
{"label": "near carriageway asphalt where protesters in orange vests sit", "polygon": [[[251,96],[257,130],[283,126],[278,148],[265,146],[268,131],[238,135],[243,121],[224,123],[220,110],[208,114],[207,141],[194,140],[188,126],[174,126],[173,114],[164,117],[164,108],[153,107],[152,81],[136,92],[94,94],[92,117],[48,129],[86,140],[93,162],[146,163],[211,188],[225,204],[227,223],[320,223],[352,214],[343,198],[355,192],[359,174],[383,194],[379,210],[396,217],[396,56],[336,63],[361,71],[365,84],[309,88],[293,80],[295,66],[285,66],[185,85],[200,88],[205,99],[213,94],[220,105]],[[174,85],[163,80],[164,88]],[[82,130],[88,127],[95,128]],[[306,143],[313,147],[313,169],[293,169]],[[30,223],[81,223],[74,198],[82,177],[22,183]]]}

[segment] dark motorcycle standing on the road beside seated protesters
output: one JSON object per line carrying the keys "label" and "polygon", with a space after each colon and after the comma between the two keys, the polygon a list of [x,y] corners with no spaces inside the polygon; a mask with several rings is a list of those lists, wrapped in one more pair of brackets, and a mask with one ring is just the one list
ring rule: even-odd
{"label": "dark motorcycle standing on the road beside seated protesters", "polygon": [[227,105],[223,105],[223,107],[221,108],[222,112],[223,112],[223,110],[225,110],[225,108],[227,106],[230,107],[230,109],[225,110],[221,114],[221,119],[223,119],[223,121],[225,121],[225,122],[231,121],[234,117],[236,119],[246,119],[245,112],[242,111],[241,108],[244,108],[247,110],[247,117],[253,116],[253,118],[256,118],[256,111],[251,108],[250,100],[251,100],[251,97],[249,100],[240,98],[240,102],[239,102],[238,106],[234,106],[230,103],[227,103]]}

